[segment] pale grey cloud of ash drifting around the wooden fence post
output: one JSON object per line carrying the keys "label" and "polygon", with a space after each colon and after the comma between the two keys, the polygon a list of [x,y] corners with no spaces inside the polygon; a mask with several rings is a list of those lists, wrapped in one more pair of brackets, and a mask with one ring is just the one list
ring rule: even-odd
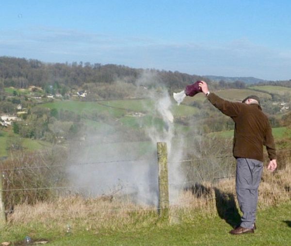
{"label": "pale grey cloud of ash drifting around the wooden fence post", "polygon": [[[146,71],[136,82],[145,87],[158,81],[157,75]],[[184,177],[180,170],[183,138],[175,130],[173,100],[161,85],[147,88],[144,105],[147,124],[140,129],[147,140],[128,141],[126,130],[116,120],[103,124],[98,131],[87,132],[83,142],[76,143],[70,154],[68,174],[72,185],[92,196],[119,196],[137,203],[158,204],[157,142],[168,147],[169,195],[175,201]],[[132,92],[134,94],[135,92]],[[158,118],[158,121],[157,121]]]}

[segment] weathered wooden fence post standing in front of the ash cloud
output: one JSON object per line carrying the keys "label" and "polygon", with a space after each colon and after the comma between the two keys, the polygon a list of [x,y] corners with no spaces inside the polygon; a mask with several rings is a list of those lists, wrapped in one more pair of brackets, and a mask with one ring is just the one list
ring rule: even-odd
{"label": "weathered wooden fence post standing in front of the ash cloud", "polygon": [[163,218],[167,218],[169,217],[167,144],[164,142],[158,142],[157,148],[159,170],[159,214]]}

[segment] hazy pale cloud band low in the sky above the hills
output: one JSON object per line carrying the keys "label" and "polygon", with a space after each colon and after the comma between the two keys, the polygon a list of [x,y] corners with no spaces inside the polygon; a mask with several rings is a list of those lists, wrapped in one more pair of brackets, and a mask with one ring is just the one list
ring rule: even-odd
{"label": "hazy pale cloud band low in the sky above the hills", "polygon": [[291,50],[271,49],[245,38],[229,43],[171,43],[147,37],[34,27],[0,33],[0,53],[45,62],[88,61],[198,75],[291,78]]}

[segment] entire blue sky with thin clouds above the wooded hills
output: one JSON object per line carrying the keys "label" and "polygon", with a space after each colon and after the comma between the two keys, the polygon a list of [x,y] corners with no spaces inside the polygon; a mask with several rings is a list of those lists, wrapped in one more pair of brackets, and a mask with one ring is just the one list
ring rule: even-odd
{"label": "entire blue sky with thin clouds above the wooded hills", "polygon": [[0,56],[291,79],[290,0],[1,0]]}

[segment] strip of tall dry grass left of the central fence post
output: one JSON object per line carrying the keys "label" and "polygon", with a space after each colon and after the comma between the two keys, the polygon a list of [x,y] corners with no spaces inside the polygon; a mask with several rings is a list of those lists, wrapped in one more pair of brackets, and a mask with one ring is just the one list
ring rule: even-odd
{"label": "strip of tall dry grass left of the central fence post", "polygon": [[[126,228],[128,225],[142,222],[143,217],[153,220],[156,209],[138,206],[130,201],[118,198],[85,198],[81,196],[59,197],[51,202],[38,202],[35,205],[17,205],[15,212],[7,219],[10,225],[26,225],[37,222],[46,225],[47,230],[98,230],[101,228]],[[154,216],[150,216],[150,215]],[[137,227],[143,223],[137,224]]]}

